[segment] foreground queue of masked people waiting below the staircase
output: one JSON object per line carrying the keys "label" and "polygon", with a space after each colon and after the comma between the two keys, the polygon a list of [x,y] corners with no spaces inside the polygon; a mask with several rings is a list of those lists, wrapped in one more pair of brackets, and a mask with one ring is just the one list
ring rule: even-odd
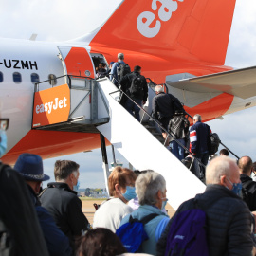
{"label": "foreground queue of masked people waiting below the staircase", "polygon": [[[132,247],[159,256],[255,255],[256,213],[250,203],[256,182],[248,156],[211,160],[206,191],[181,204],[171,219],[164,211],[169,184],[161,174],[116,167],[108,179],[111,197],[96,211],[93,229],[75,192],[79,168],[73,161],[56,161],[55,182],[42,191],[49,176],[39,155],[20,155],[13,169],[0,163],[3,255],[114,256]],[[136,198],[134,210],[129,202]]]}

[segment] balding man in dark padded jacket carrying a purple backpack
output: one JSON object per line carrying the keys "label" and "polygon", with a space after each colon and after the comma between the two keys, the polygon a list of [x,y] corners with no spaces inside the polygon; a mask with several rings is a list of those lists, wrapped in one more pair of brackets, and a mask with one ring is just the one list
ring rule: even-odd
{"label": "balding man in dark padded jacket carrying a purple backpack", "polygon": [[[207,166],[206,182],[206,191],[195,196],[197,205],[206,213],[208,245],[202,247],[208,246],[210,256],[251,256],[251,215],[239,196],[242,184],[235,161],[229,157],[214,158]],[[157,244],[157,256],[167,255],[168,232],[177,214],[193,208],[194,199],[181,204]]]}

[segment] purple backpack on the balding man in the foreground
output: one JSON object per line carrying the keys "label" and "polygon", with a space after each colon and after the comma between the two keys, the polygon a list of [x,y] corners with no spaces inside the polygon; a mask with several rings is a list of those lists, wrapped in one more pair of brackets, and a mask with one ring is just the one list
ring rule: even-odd
{"label": "purple backpack on the balding man in the foreground", "polygon": [[193,209],[177,213],[169,229],[165,256],[208,256],[206,213],[193,199]]}

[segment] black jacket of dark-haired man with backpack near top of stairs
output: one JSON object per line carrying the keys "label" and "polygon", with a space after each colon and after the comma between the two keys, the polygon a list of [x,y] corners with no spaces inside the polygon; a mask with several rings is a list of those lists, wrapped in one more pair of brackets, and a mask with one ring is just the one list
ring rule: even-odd
{"label": "black jacket of dark-haired man with backpack near top of stairs", "polygon": [[133,95],[129,93],[129,88],[132,85],[133,79],[138,76],[139,74],[137,72],[132,72],[130,74],[127,74],[120,80],[121,90],[125,92],[128,96],[130,96],[132,99],[138,99],[142,101],[147,101],[148,99],[148,84],[144,76],[141,76],[142,79],[142,86],[143,91],[140,94]]}

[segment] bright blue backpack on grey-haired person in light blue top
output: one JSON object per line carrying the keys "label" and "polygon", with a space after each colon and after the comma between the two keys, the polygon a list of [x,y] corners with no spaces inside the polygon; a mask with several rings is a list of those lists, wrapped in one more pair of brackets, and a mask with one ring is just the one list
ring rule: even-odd
{"label": "bright blue backpack on grey-haired person in light blue top", "polygon": [[119,227],[116,231],[116,235],[119,237],[121,243],[128,252],[134,253],[139,251],[141,244],[145,240],[149,239],[146,231],[144,230],[144,225],[157,216],[159,216],[159,214],[152,213],[141,220],[137,220],[131,215],[129,222]]}

